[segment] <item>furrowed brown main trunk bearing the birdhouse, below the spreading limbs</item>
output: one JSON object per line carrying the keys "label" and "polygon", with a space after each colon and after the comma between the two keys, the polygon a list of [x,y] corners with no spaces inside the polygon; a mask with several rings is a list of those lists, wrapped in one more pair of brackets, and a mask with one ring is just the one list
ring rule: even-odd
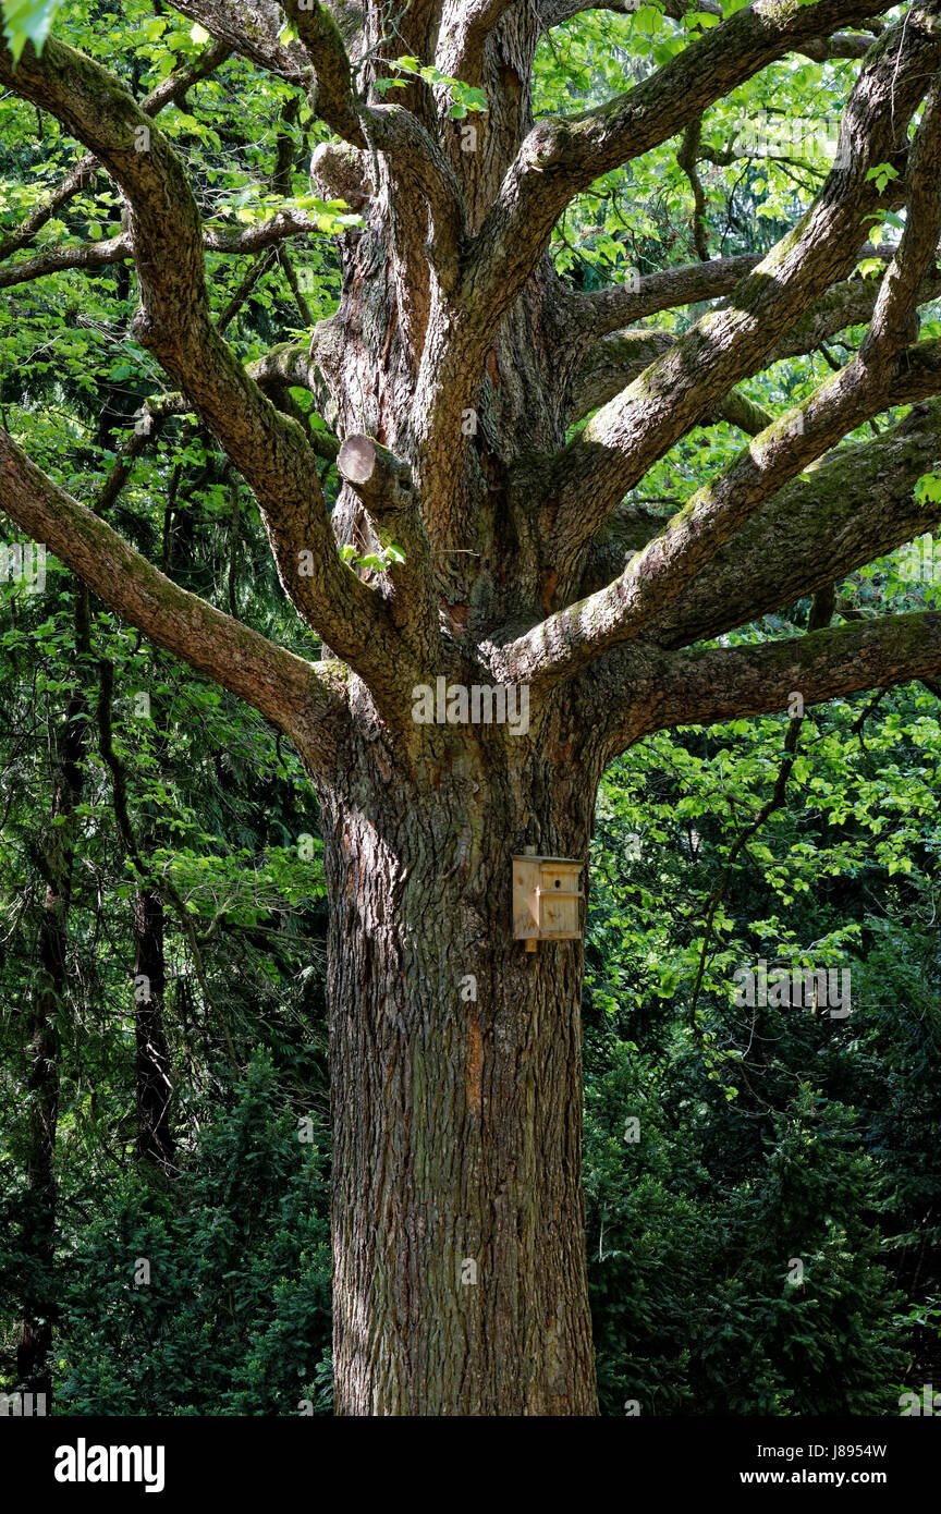
{"label": "furrowed brown main trunk bearing the birdhouse, below the spreading limbs", "polygon": [[513,940],[510,857],[584,861],[596,784],[433,730],[324,796],[334,1410],[590,1416],[582,942]]}

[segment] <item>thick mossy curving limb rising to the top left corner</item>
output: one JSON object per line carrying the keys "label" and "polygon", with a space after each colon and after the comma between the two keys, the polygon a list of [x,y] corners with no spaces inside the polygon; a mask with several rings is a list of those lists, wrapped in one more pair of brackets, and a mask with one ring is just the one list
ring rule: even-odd
{"label": "thick mossy curving limb rising to the top left corner", "polygon": [[200,215],[172,148],[113,76],[54,39],[41,59],[27,45],[15,71],[3,48],[0,79],[56,115],[124,191],[141,294],[133,332],[250,483],[286,593],[377,690],[396,683],[387,612],[339,557],[303,428],[265,398],[212,327]]}

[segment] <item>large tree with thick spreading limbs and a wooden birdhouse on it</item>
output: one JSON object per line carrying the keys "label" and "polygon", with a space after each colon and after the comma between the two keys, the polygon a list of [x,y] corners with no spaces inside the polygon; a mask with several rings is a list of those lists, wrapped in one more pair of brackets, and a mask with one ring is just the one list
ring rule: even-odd
{"label": "large tree with thick spreading limbs and a wooden birdhouse on it", "polygon": [[[174,9],[209,45],[141,103],[54,38],[0,53],[5,86],[85,148],[5,236],[0,283],[132,263],[133,336],[172,391],[92,507],[0,431],[0,504],[280,727],[319,795],[337,1413],[592,1414],[582,948],[514,940],[510,858],[585,861],[605,766],[652,731],[941,668],[936,615],[834,624],[832,598],[938,521],[914,497],[941,450],[941,341],[918,341],[938,292],[938,6],[670,0],[658,67],[539,118],[540,41],[631,0]],[[284,247],[318,221],[286,201],[242,230],[207,224],[198,160],[156,121],[233,55],[307,97],[327,127],[312,176],[360,223],[337,236],[336,313],[251,363],[212,316],[206,254]],[[849,61],[834,165],[767,256],[710,259],[703,118],[793,56]],[[699,260],[595,291],[560,277],[549,248],[567,207],[672,139]],[[120,235],[35,251],[95,173],[121,194]],[[879,276],[858,277],[893,215]],[[703,303],[697,319],[640,326]],[[784,413],[737,388],[861,324],[847,362]],[[914,409],[899,425],[838,447],[900,406]],[[247,480],[319,660],[186,592],[104,521],[171,413],[198,418]],[[638,504],[651,469],[717,418],[747,445],[669,516]],[[324,462],[342,481],[333,509]],[[808,634],[729,643],[808,597]],[[416,719],[416,687],[437,678],[525,686],[528,728]]]}

